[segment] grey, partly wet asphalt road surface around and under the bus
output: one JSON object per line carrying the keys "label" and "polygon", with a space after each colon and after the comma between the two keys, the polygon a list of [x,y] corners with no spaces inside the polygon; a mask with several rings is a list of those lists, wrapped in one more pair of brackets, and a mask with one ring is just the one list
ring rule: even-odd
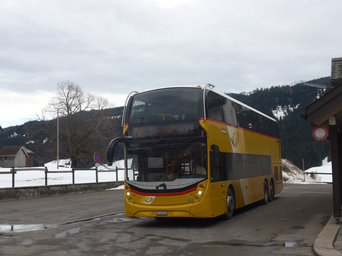
{"label": "grey, partly wet asphalt road surface around and under the bus", "polygon": [[123,190],[0,202],[1,255],[315,255],[331,185],[284,185],[229,221],[126,218]]}

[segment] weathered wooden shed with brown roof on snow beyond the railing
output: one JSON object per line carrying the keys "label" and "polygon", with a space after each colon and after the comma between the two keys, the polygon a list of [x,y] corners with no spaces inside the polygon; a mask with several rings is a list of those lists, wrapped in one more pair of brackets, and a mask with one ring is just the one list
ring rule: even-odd
{"label": "weathered wooden shed with brown roof on snow beyond the railing", "polygon": [[24,146],[3,147],[0,150],[0,167],[33,167],[33,154]]}

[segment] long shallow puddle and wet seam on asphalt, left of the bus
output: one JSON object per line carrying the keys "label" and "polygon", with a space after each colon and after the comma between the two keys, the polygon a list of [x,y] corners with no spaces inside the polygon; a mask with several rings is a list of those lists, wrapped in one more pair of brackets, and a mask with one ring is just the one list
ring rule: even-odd
{"label": "long shallow puddle and wet seam on asphalt, left of the bus", "polygon": [[[109,216],[116,216],[116,215],[122,215],[124,212],[116,212],[116,213],[110,213],[106,215],[101,215],[101,216],[95,216],[92,218],[86,218],[86,219],[78,219],[76,221],[70,221],[70,222],[65,222],[65,223],[59,223],[55,225],[45,225],[45,224],[15,224],[15,225],[2,225],[0,224],[0,233],[1,232],[27,232],[27,231],[36,231],[36,230],[44,230],[48,228],[56,228],[59,226],[64,226],[64,225],[70,225],[70,224],[75,224],[75,223],[80,223],[80,222],[87,222],[87,221],[96,221],[100,220],[101,218],[104,217],[109,217]],[[123,219],[113,219],[112,222],[115,221],[122,221]],[[0,234],[1,236],[1,234]]]}

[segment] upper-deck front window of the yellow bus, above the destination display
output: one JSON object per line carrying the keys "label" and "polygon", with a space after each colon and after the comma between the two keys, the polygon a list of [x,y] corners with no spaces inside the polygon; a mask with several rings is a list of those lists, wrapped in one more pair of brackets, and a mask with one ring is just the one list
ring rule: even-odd
{"label": "upper-deck front window of the yellow bus, above the destination display", "polygon": [[134,95],[129,125],[184,122],[199,119],[201,88],[176,87]]}

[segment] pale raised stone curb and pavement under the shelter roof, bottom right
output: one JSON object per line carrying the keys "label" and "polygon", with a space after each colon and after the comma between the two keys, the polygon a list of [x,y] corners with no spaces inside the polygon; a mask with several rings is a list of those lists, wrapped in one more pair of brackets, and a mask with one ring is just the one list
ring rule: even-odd
{"label": "pale raised stone curb and pavement under the shelter roof, bottom right", "polygon": [[318,256],[342,256],[342,253],[333,247],[340,226],[332,215],[314,243],[314,251]]}

